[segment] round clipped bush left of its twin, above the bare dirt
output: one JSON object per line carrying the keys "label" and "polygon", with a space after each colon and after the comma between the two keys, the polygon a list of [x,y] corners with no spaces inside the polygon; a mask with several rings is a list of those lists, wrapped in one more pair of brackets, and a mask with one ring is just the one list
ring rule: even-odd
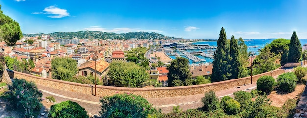
{"label": "round clipped bush left of its twin, above the bare dirt", "polygon": [[257,90],[269,93],[273,90],[275,84],[275,79],[272,76],[261,76],[257,80]]}

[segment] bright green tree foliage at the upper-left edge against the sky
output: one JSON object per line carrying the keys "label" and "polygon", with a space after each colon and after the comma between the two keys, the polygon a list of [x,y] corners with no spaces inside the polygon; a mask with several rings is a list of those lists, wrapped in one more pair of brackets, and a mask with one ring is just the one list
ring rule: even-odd
{"label": "bright green tree foliage at the upper-left edge against the sky", "polygon": [[22,37],[19,24],[3,14],[0,6],[0,41],[4,41],[8,46],[14,46]]}

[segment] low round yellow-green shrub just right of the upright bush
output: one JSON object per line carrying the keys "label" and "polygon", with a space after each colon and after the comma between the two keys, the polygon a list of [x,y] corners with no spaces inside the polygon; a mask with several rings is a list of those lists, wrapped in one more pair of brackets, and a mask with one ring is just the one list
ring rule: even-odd
{"label": "low round yellow-green shrub just right of the upright bush", "polygon": [[240,103],[233,99],[226,100],[224,105],[225,113],[229,115],[239,113],[241,107]]}

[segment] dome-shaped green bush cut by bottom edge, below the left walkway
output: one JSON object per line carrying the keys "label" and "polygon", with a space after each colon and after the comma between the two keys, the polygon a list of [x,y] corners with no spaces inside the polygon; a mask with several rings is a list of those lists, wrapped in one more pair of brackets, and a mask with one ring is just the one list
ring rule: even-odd
{"label": "dome-shaped green bush cut by bottom edge, below the left walkway", "polygon": [[89,118],[89,116],[78,103],[64,101],[50,107],[48,118]]}

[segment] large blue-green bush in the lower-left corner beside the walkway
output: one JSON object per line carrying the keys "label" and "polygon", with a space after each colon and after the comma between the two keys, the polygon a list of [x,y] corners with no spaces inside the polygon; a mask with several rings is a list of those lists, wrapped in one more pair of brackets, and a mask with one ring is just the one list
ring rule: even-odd
{"label": "large blue-green bush in the lower-left corner beside the walkway", "polygon": [[25,117],[29,118],[42,107],[40,103],[43,96],[34,82],[25,79],[13,79],[8,85],[8,100],[10,104],[18,109],[25,110]]}

